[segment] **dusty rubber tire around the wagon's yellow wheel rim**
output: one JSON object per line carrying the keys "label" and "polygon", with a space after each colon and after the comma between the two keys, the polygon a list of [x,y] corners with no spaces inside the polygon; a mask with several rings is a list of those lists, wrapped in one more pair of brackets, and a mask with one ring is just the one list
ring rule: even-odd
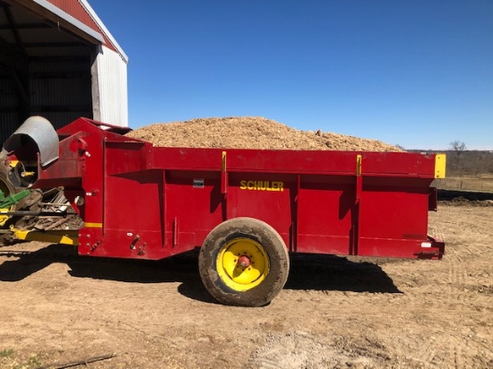
{"label": "dusty rubber tire around the wagon's yellow wheel rim", "polygon": [[[264,280],[247,291],[228,287],[216,265],[224,245],[236,238],[249,238],[261,245],[269,261]],[[288,249],[277,231],[264,221],[253,218],[229,219],[212,229],[199,254],[199,271],[209,293],[225,305],[264,306],[277,296],[286,284],[290,272]]]}

